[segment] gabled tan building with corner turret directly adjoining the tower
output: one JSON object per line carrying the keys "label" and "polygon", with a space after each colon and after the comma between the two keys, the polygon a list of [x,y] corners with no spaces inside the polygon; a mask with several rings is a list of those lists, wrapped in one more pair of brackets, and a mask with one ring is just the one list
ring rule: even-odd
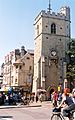
{"label": "gabled tan building with corner turret directly adjoining the tower", "polygon": [[[14,64],[15,82],[11,86],[23,88],[24,91],[32,91],[34,54],[26,53],[18,59]],[[14,82],[14,81],[13,81]]]}

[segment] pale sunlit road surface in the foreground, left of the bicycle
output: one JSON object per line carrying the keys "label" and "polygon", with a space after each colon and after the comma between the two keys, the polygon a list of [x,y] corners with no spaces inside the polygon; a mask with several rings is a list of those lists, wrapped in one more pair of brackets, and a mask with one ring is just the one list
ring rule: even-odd
{"label": "pale sunlit road surface in the foreground, left of the bicycle", "polygon": [[0,120],[50,120],[50,116],[51,108],[48,105],[0,109]]}

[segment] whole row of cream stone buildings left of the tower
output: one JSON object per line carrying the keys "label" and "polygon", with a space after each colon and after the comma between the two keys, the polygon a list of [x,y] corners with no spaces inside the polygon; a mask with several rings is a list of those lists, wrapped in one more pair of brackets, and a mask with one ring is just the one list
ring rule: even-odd
{"label": "whole row of cream stone buildings left of the tower", "polygon": [[[5,56],[3,65],[3,87],[30,88],[33,79],[34,52],[15,49]],[[28,87],[27,87],[28,86]]]}

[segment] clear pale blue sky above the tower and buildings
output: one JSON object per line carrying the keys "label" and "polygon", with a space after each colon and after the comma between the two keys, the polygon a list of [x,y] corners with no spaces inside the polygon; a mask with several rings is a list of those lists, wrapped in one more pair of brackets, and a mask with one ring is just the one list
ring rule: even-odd
{"label": "clear pale blue sky above the tower and buildings", "polygon": [[[0,66],[4,56],[20,49],[34,49],[34,19],[48,8],[49,0],[0,0]],[[59,12],[61,6],[71,9],[71,37],[75,38],[75,0],[51,0],[51,8]]]}

